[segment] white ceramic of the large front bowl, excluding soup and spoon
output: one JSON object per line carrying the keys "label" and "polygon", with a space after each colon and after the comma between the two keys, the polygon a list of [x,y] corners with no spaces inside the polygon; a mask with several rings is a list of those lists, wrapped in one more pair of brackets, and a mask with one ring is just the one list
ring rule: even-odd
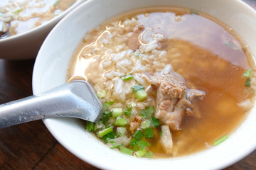
{"label": "white ceramic of the large front bowl, excluding soup and spoon", "polygon": [[[112,16],[145,6],[184,6],[208,13],[231,26],[256,55],[256,12],[238,0],[92,0],[65,16],[41,47],[33,71],[33,93],[65,84],[70,57],[87,30]],[[80,159],[101,169],[222,169],[256,148],[255,108],[221,145],[174,159],[139,159],[115,152],[72,118],[43,120],[53,136]]]}

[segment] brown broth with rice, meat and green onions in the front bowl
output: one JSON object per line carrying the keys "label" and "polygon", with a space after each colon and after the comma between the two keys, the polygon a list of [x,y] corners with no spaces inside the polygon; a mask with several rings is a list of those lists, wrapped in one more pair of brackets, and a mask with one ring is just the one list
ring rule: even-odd
{"label": "brown broth with rice, meat and green onions in the front bowl", "polygon": [[102,101],[88,131],[136,157],[181,157],[218,145],[254,103],[255,64],[232,29],[186,8],[124,13],[82,38],[68,81]]}

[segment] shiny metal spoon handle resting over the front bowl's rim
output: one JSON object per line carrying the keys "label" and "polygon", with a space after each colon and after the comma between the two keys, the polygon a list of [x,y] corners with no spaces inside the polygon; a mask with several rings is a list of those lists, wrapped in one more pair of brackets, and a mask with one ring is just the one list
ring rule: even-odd
{"label": "shiny metal spoon handle resting over the front bowl's rim", "polygon": [[95,122],[102,104],[87,81],[75,80],[42,94],[0,105],[0,128],[43,118],[71,117]]}

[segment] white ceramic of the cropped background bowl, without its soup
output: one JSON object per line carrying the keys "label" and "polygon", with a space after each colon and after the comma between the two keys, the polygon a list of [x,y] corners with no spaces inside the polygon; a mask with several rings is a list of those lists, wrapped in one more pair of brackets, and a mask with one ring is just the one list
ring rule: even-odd
{"label": "white ceramic of the cropped background bowl, without its soup", "polygon": [[74,8],[82,4],[85,0],[78,0],[59,16],[48,21],[48,23],[31,30],[8,38],[0,39],[0,58],[8,60],[24,60],[35,58],[38,54],[43,40],[45,40],[50,30]]}

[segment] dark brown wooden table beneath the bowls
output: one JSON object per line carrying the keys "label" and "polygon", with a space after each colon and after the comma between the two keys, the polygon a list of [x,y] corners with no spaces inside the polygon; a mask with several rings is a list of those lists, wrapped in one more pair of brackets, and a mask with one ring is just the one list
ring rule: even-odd
{"label": "dark brown wooden table beneath the bowls", "polygon": [[[256,6],[255,0],[245,0]],[[32,95],[34,60],[0,60],[0,103]],[[235,149],[235,148],[234,148]],[[82,162],[50,135],[41,120],[0,130],[0,169],[97,169]],[[256,169],[256,150],[226,168]]]}

